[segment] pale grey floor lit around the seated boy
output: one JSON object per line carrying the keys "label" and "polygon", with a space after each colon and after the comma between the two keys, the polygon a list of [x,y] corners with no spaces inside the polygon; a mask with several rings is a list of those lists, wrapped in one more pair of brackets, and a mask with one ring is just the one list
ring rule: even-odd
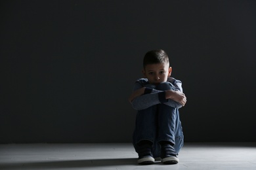
{"label": "pale grey floor lit around the seated boy", "polygon": [[179,164],[137,165],[131,144],[0,144],[0,169],[256,169],[256,143],[185,143]]}

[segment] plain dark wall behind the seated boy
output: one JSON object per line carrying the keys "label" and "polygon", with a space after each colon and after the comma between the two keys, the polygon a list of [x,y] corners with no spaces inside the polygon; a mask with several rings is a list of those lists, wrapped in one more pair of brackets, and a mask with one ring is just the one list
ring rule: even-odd
{"label": "plain dark wall behind the seated boy", "polygon": [[185,141],[256,141],[256,1],[1,1],[0,143],[131,142],[148,50],[169,54]]}

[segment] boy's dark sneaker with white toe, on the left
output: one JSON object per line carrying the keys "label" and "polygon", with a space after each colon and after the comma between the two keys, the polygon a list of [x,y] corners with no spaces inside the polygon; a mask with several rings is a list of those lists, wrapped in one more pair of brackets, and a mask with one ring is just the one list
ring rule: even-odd
{"label": "boy's dark sneaker with white toe, on the left", "polygon": [[154,163],[154,161],[155,159],[153,158],[153,155],[151,152],[151,146],[148,144],[141,146],[138,163],[140,165],[150,165]]}

